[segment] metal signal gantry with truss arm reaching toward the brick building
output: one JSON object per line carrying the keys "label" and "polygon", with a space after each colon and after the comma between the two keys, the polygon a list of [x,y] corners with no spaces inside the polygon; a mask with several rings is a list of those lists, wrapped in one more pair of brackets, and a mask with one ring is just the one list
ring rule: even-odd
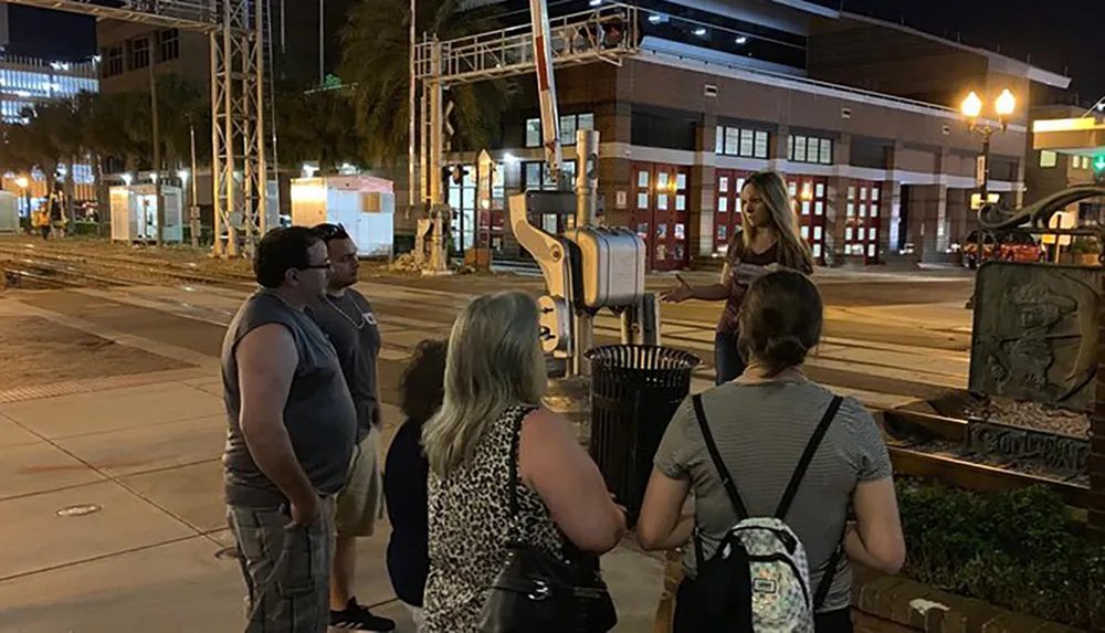
{"label": "metal signal gantry with truss arm reaching toward the brick building", "polygon": [[[603,3],[549,20],[554,66],[621,65],[622,59],[638,53],[639,44],[638,9],[629,4]],[[421,109],[421,126],[412,126],[421,136],[415,196],[428,209],[444,204],[441,184],[449,127],[444,91],[452,85],[534,73],[536,68],[534,31],[528,22],[449,41],[424,38],[414,48],[413,80],[422,82],[421,108],[415,108]],[[411,116],[417,113],[411,112]]]}

